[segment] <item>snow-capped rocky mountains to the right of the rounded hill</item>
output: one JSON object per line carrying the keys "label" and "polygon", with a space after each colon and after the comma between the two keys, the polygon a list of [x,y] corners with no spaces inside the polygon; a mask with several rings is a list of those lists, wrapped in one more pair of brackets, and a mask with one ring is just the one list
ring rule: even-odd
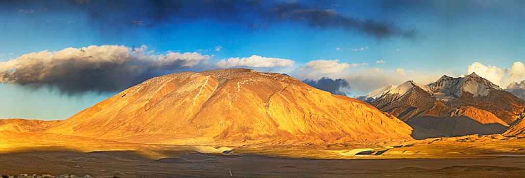
{"label": "snow-capped rocky mountains to the right of the rounded hill", "polygon": [[442,76],[428,85],[405,82],[370,102],[414,128],[416,139],[501,133],[525,102],[475,73]]}

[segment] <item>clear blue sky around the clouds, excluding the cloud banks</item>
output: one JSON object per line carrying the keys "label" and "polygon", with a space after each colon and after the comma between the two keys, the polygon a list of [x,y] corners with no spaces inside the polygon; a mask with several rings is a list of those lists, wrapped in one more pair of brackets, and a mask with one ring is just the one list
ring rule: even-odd
{"label": "clear blue sky around the clouds, excluding the cloud banks", "polygon": [[[388,83],[399,84],[404,80],[427,83],[444,74],[458,76],[469,70],[480,70],[474,66],[469,69],[476,61],[487,69],[496,66],[501,70],[497,76],[508,78],[511,74],[507,69],[525,57],[523,1],[265,1],[255,6],[238,5],[248,4],[246,1],[215,1],[213,5],[181,1],[174,4],[182,8],[175,10],[159,8],[169,7],[170,3],[153,2],[156,4],[151,1],[2,2],[0,61],[16,60],[32,52],[93,45],[130,49],[144,45],[155,55],[170,51],[209,55],[205,64],[163,72],[169,73],[214,69],[220,60],[258,55],[295,63],[236,67],[286,72],[301,80],[317,80],[323,76],[341,78],[349,81],[348,93],[355,96]],[[232,6],[235,8],[230,8],[231,4],[235,4]],[[373,20],[395,28],[398,33],[378,37],[353,26],[310,24],[265,14],[282,4],[327,12],[337,18]],[[415,37],[400,35],[411,31]],[[218,46],[222,48],[215,50]],[[315,60],[367,65],[347,66],[329,73],[312,68],[305,74],[308,62]],[[384,63],[376,63],[380,60]],[[382,74],[366,72],[373,70]],[[485,71],[487,76],[491,74]],[[507,78],[501,79],[502,87],[523,80],[522,77]],[[28,119],[65,119],[118,93],[64,93],[57,88],[35,89],[19,82],[0,83],[0,92],[0,118]]]}

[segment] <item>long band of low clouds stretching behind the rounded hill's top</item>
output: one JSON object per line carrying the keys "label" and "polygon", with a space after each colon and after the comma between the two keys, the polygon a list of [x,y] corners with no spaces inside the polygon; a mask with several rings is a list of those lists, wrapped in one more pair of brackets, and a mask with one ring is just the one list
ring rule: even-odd
{"label": "long band of low clouds stretching behind the rounded hill's top", "polygon": [[[145,46],[66,48],[55,52],[28,53],[17,59],[0,62],[0,82],[48,86],[67,94],[117,92],[168,73],[216,68],[258,68],[258,71],[288,73],[334,94],[348,94],[350,91],[353,94],[365,94],[387,84],[400,84],[406,80],[428,83],[443,75],[405,75],[406,71],[414,71],[372,68],[367,63],[344,63],[339,60],[312,60],[297,66],[293,60],[259,55],[228,58],[214,64],[209,63],[211,58],[197,52],[159,54],[148,51]],[[514,71],[513,76],[522,75],[517,72],[520,71],[519,66],[517,63],[509,70]],[[348,85],[352,85],[352,88]]]}

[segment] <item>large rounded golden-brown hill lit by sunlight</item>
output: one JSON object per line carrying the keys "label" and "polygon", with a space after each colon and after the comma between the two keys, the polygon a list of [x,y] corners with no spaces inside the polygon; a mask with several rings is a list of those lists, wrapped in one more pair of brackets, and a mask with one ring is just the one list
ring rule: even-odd
{"label": "large rounded golden-brown hill lit by sunlight", "polygon": [[248,69],[155,77],[46,132],[141,143],[410,138],[412,128],[358,99]]}

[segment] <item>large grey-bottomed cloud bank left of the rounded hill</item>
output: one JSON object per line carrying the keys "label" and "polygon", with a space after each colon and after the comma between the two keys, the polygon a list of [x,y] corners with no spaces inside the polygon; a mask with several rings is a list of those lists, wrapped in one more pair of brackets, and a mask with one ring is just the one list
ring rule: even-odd
{"label": "large grey-bottomed cloud bank left of the rounded hill", "polygon": [[113,92],[209,59],[199,53],[150,54],[146,48],[89,46],[40,51],[0,62],[0,82],[57,87],[68,94]]}

